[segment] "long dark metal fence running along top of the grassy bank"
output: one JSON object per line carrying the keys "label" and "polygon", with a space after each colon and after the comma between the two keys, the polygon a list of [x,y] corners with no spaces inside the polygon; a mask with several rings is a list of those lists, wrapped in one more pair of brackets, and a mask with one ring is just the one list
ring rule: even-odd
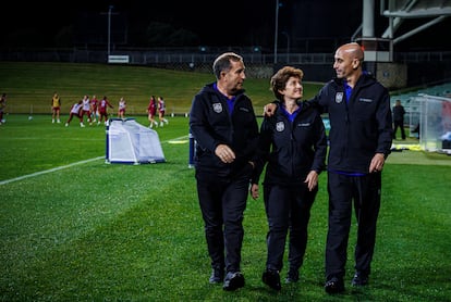
{"label": "long dark metal fence running along top of the grassy bank", "polygon": [[[330,64],[333,53],[302,53],[281,50],[279,53],[263,53],[247,48],[217,48],[208,51],[193,51],[192,49],[115,49],[111,54],[127,55],[130,64],[178,64],[190,68],[192,64],[211,64],[218,53],[235,51],[243,55],[245,62],[251,64]],[[395,52],[394,62],[450,62],[451,51],[429,52]],[[1,49],[0,61],[28,61],[28,62],[70,62],[70,63],[107,63],[108,53],[98,49]],[[195,66],[194,65],[194,66]]]}

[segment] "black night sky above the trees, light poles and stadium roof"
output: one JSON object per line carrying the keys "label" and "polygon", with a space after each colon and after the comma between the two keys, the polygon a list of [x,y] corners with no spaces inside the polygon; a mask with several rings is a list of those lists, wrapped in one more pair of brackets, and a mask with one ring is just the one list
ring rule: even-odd
{"label": "black night sky above the trees, light poles and stadium roof", "polygon": [[[276,0],[51,2],[53,1],[2,1],[0,38],[8,41],[11,36],[21,37],[23,33],[28,33],[29,36],[33,33],[36,41],[53,47],[52,39],[62,27],[74,26],[80,32],[85,26],[93,32],[90,34],[105,39],[108,8],[113,5],[112,27],[115,32],[126,32],[127,43],[132,47],[139,47],[137,39],[145,34],[150,22],[168,23],[173,28],[190,30],[197,35],[199,45],[258,45],[270,48],[273,43]],[[378,2],[375,0],[376,5]],[[291,40],[292,46],[302,43],[305,39],[349,38],[362,23],[362,1],[280,0],[280,3],[279,32],[295,36]],[[451,17],[446,23],[415,35],[401,47],[420,50],[429,45],[446,45],[444,33],[451,29],[450,21]],[[409,22],[413,23],[406,23]],[[416,21],[418,24],[422,22],[425,21]],[[376,36],[380,36],[388,26],[388,18],[381,17],[377,11],[375,23]],[[279,39],[281,43],[287,42],[283,36]]]}

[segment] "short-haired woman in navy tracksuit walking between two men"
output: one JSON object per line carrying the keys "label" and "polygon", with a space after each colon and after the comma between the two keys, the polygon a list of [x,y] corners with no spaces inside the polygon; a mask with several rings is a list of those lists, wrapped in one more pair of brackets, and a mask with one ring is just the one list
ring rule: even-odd
{"label": "short-haired woman in navy tracksuit walking between two men", "polygon": [[259,176],[267,163],[264,201],[268,218],[267,262],[263,281],[280,290],[287,235],[290,229],[288,282],[298,280],[307,244],[310,207],[325,169],[327,139],[322,119],[303,96],[303,72],[285,66],[271,78],[280,110],[260,126],[252,196],[258,197]]}

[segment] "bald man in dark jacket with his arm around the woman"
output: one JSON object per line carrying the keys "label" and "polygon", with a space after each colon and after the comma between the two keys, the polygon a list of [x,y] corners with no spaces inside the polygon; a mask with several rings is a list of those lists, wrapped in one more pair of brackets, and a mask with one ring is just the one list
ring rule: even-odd
{"label": "bald man in dark jacket with his arm around the woman", "polygon": [[[380,207],[381,172],[390,154],[392,117],[388,90],[363,71],[364,51],[355,42],[339,47],[337,77],[308,102],[328,113],[329,223],[326,243],[327,293],[345,290],[345,264],[352,211],[357,221],[355,274],[351,285],[368,285]],[[277,103],[267,104],[271,115]]]}

